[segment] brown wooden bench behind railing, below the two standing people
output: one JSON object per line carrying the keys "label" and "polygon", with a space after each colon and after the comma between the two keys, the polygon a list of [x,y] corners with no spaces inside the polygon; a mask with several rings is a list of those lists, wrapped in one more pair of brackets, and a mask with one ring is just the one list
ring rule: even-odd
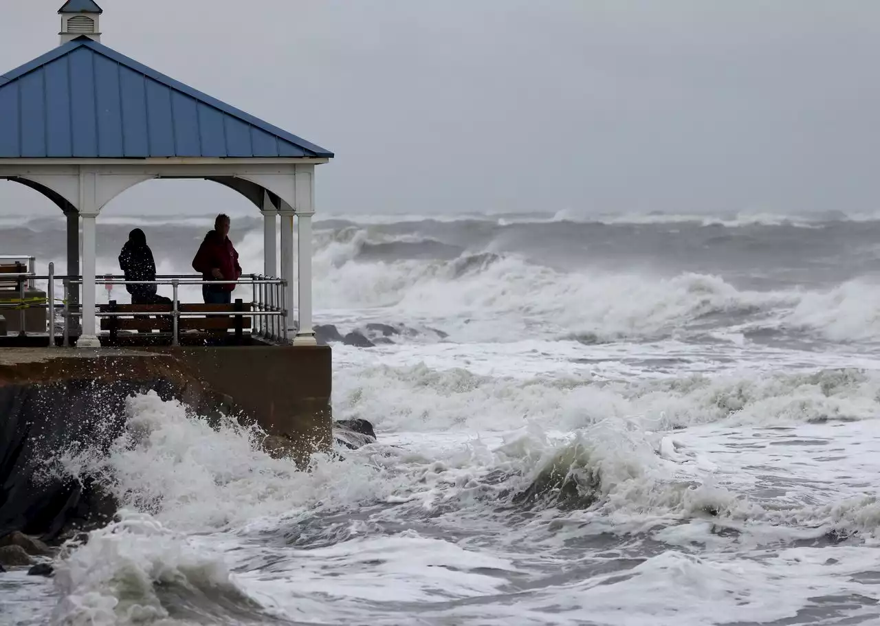
{"label": "brown wooden bench behind railing, below the two standing people", "polygon": [[[250,312],[253,310],[253,302],[242,302],[241,299],[231,304],[178,302],[177,306],[180,314]],[[172,312],[171,304],[119,304],[115,300],[111,300],[107,304],[100,304],[98,309],[101,313],[123,314],[101,317],[101,330],[109,331],[111,344],[119,343],[119,331],[137,331],[138,335],[129,336],[137,343],[146,339],[161,340],[172,334],[173,321],[172,317],[168,315]],[[150,316],[125,317],[126,313],[149,313]],[[183,317],[181,315],[178,317],[177,328],[179,338],[183,334],[191,335],[193,331],[212,337],[227,335],[232,331],[236,340],[240,342],[244,337],[245,330],[250,330],[252,324],[253,318],[243,315],[209,315],[209,317]],[[144,337],[144,334],[147,337]]]}

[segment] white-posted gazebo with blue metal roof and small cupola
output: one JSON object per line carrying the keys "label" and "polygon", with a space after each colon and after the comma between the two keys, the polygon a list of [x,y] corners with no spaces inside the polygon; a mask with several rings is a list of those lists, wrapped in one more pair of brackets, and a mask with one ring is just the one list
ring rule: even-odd
{"label": "white-posted gazebo with blue metal roof and small cupola", "polygon": [[92,0],[68,0],[58,12],[61,45],[0,76],[0,178],[35,189],[67,216],[67,273],[81,274],[84,287],[77,346],[100,346],[95,226],[101,209],[152,178],[204,178],[251,200],[264,219],[269,276],[276,273],[280,217],[287,328],[295,345],[314,345],[315,165],[334,155],[104,46],[103,11]]}

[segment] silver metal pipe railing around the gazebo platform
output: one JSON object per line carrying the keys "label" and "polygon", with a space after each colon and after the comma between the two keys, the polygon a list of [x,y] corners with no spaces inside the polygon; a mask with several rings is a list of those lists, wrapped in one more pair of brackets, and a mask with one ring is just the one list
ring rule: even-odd
{"label": "silver metal pipe railing around the gazebo platform", "polygon": [[[2,258],[2,257],[0,257]],[[22,258],[22,257],[18,257]],[[32,257],[33,258],[33,257]],[[81,318],[83,315],[82,305],[70,302],[70,286],[83,285],[82,276],[64,276],[55,274],[55,264],[48,266],[48,275],[39,276],[35,273],[6,273],[4,277],[18,280],[19,302],[0,303],[2,309],[21,309],[22,325],[21,333],[25,335],[25,309],[47,309],[49,346],[55,346],[57,313],[62,312],[62,346],[70,345],[70,331],[72,320]],[[47,280],[47,296],[42,302],[26,302],[24,285],[29,282],[35,286],[36,280]],[[55,301],[55,281],[62,280],[63,298],[62,303]],[[170,311],[107,311],[95,307],[95,317],[170,317],[172,319],[172,346],[180,345],[180,317],[253,317],[255,324],[250,333],[270,341],[288,340],[287,310],[284,309],[286,300],[287,281],[264,276],[262,274],[247,274],[239,280],[212,280],[212,285],[250,285],[253,291],[253,304],[250,310],[180,310],[181,287],[193,286],[201,288],[205,281],[199,274],[163,274],[156,280],[125,280],[124,277],[112,274],[96,276],[95,285],[171,285],[172,309]]]}

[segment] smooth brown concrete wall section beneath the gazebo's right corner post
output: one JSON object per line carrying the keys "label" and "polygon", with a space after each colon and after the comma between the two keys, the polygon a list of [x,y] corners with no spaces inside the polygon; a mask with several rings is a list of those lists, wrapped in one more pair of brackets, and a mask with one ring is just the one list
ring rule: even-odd
{"label": "smooth brown concrete wall section beneath the gazebo's right corner post", "polygon": [[328,346],[155,348],[171,353],[235,409],[297,449],[332,441],[332,352]]}

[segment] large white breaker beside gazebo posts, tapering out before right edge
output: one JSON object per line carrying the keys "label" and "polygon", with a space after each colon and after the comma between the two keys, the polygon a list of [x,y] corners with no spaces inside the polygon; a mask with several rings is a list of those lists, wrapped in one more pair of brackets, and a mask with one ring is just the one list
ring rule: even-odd
{"label": "large white breaker beside gazebo posts, tapering out before right edge", "polygon": [[797,302],[790,293],[740,291],[711,275],[563,273],[491,252],[448,263],[359,263],[333,247],[319,254],[316,267],[315,299],[325,308],[389,307],[392,314],[444,319],[472,340],[521,337],[530,323],[562,338],[656,338],[710,314],[737,316]]}

